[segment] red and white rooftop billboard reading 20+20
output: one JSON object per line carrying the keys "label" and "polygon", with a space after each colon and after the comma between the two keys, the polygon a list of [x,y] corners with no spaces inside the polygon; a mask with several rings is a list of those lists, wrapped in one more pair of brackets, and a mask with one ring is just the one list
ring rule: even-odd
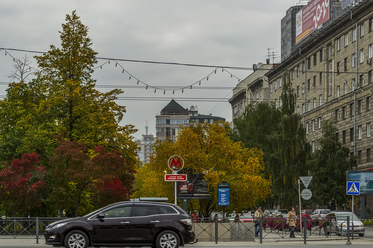
{"label": "red and white rooftop billboard reading 20+20", "polygon": [[295,43],[329,20],[330,0],[312,0],[296,15]]}

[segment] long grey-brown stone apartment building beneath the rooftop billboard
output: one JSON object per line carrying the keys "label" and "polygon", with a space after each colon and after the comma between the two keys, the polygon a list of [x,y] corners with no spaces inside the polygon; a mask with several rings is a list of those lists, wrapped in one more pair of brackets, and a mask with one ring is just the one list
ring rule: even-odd
{"label": "long grey-brown stone apartment building beneath the rooftop billboard", "polygon": [[[336,137],[358,158],[358,170],[373,168],[373,0],[355,0],[339,16],[301,41],[297,51],[270,72],[269,86],[289,72],[297,96],[296,111],[313,151],[321,122],[334,119]],[[269,102],[281,90],[269,92]],[[366,204],[373,207],[372,195]]]}

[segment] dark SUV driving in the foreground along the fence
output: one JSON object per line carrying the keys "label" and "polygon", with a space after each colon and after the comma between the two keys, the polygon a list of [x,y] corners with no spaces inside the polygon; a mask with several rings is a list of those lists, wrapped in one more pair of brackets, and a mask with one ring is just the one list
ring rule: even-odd
{"label": "dark SUV driving in the foreground along the fence", "polygon": [[197,242],[191,226],[188,213],[174,204],[119,202],[51,223],[44,236],[54,247],[178,248]]}

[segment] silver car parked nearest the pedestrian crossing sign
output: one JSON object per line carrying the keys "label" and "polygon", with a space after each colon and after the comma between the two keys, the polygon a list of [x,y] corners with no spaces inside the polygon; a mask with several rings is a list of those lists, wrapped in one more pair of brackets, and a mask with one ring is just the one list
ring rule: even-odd
{"label": "silver car parked nearest the pedestrian crossing sign", "polygon": [[341,232],[347,234],[347,216],[350,216],[350,231],[352,231],[352,225],[354,225],[354,233],[363,237],[365,233],[363,222],[354,213],[345,211],[332,211],[325,216],[325,219],[330,220],[324,225],[325,235],[329,235],[331,232],[334,232],[337,236],[341,235]]}

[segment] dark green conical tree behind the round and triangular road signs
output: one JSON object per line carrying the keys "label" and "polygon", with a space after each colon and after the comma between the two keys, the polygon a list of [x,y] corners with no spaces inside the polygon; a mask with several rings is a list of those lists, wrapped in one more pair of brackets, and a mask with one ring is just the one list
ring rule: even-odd
{"label": "dark green conical tree behind the round and triangular road signs", "polygon": [[314,199],[319,205],[331,209],[346,204],[346,171],[357,166],[356,159],[350,157],[350,149],[337,140],[338,129],[334,120],[322,122],[322,138],[318,139],[316,149],[307,162],[310,175],[313,176],[311,188]]}

